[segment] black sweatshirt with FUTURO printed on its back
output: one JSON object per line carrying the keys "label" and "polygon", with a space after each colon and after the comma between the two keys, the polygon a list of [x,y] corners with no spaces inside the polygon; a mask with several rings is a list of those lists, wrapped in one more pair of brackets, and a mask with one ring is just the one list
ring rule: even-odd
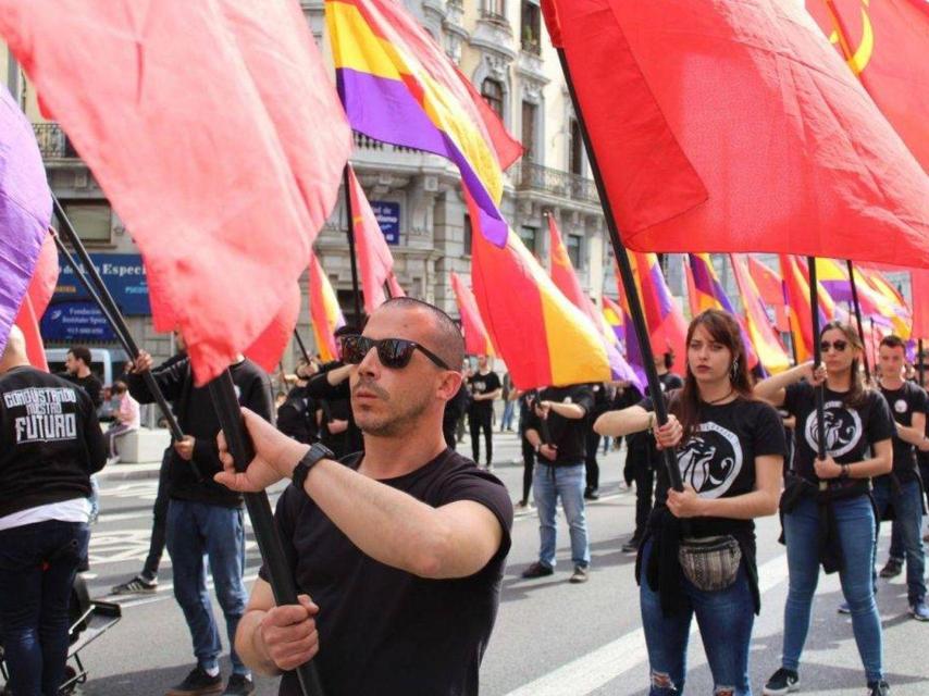
{"label": "black sweatshirt with FUTURO printed on its back", "polygon": [[90,495],[107,447],[87,393],[29,366],[0,376],[0,518]]}

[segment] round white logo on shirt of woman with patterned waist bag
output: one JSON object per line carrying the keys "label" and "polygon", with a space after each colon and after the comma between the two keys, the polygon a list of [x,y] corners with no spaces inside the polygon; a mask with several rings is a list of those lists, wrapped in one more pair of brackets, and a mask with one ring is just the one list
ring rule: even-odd
{"label": "round white logo on shirt of woman with patterned waist bag", "polygon": [[693,486],[698,495],[719,498],[742,471],[739,437],[717,423],[701,423],[678,450],[678,467],[684,484]]}

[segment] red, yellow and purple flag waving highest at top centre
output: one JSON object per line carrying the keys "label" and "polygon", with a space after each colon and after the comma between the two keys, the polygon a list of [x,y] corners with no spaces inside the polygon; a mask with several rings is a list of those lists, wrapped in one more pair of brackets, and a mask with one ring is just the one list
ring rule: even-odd
{"label": "red, yellow and purple flag waving highest at top centre", "polygon": [[399,2],[326,0],[325,14],[351,127],[448,158],[476,204],[472,223],[486,239],[506,246],[508,227],[497,207],[503,167],[516,150],[475,101],[473,87]]}

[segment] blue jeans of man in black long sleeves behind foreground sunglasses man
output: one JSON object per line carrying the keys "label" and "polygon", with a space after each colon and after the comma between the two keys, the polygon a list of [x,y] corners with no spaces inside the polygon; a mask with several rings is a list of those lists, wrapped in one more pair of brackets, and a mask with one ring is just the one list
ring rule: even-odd
{"label": "blue jeans of man in black long sleeves behind foreground sunglasses man", "polygon": [[[207,591],[207,564],[226,619],[233,672],[248,674],[235,651],[235,630],[245,613],[245,519],[241,508],[172,499],[168,506],[168,554],[174,571],[174,597],[205,670],[219,667],[223,645]],[[205,558],[206,557],[206,558]]]}

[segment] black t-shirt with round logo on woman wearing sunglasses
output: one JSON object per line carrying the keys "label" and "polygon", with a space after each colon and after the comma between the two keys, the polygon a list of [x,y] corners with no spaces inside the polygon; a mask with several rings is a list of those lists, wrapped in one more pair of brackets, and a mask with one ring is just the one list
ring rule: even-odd
{"label": "black t-shirt with round logo on woman wearing sunglasses", "polygon": [[[826,453],[839,464],[867,459],[869,446],[890,439],[894,434],[890,408],[879,391],[866,391],[864,403],[857,409],[846,408],[842,401],[844,396],[823,389]],[[816,390],[809,382],[797,382],[785,389],[783,408],[796,418],[794,473],[818,483],[814,469],[817,457],[815,397]]]}

